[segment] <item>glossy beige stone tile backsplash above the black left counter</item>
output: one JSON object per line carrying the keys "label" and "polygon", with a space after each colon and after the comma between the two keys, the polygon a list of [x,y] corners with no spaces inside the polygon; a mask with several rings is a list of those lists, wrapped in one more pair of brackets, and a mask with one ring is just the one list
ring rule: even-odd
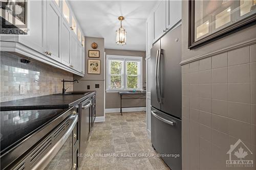
{"label": "glossy beige stone tile backsplash above the black left counter", "polygon": [[[21,57],[1,52],[1,102],[31,98],[62,92],[62,79],[73,80],[70,72],[31,60],[20,63]],[[19,85],[25,86],[25,94],[19,94]],[[73,90],[73,83],[66,82],[67,91]]]}

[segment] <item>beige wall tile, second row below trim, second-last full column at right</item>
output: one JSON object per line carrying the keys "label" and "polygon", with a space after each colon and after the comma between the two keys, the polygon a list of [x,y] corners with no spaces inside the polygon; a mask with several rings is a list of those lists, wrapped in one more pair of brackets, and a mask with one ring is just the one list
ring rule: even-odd
{"label": "beige wall tile, second row below trim, second-last full column at right", "polygon": [[212,83],[227,83],[227,67],[212,69]]}

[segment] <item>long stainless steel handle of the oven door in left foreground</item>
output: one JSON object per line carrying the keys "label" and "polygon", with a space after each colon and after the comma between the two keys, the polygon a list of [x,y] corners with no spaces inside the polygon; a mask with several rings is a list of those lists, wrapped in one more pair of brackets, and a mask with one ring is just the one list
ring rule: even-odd
{"label": "long stainless steel handle of the oven door in left foreground", "polygon": [[53,159],[53,157],[58,153],[60,148],[65,144],[69,136],[72,134],[76,123],[78,122],[78,115],[70,116],[70,119],[74,119],[73,123],[69,127],[69,129],[65,132],[65,134],[55,143],[55,145],[42,157],[35,166],[32,167],[32,170],[35,169],[44,169],[48,163]]}

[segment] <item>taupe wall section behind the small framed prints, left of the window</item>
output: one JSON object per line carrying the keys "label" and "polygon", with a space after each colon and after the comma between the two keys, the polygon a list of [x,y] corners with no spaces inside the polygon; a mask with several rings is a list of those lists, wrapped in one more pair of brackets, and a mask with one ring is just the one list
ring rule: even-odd
{"label": "taupe wall section behind the small framed prints, left of the window", "polygon": [[[100,51],[99,58],[89,58],[88,51],[94,50],[91,44],[96,42]],[[104,116],[104,38],[86,37],[85,41],[85,73],[84,77],[74,75],[74,79],[78,79],[79,83],[74,83],[74,90],[88,90],[87,85],[90,85],[90,90],[96,90],[96,116]],[[88,59],[100,60],[100,74],[88,74]],[[95,84],[99,84],[99,88],[95,88]]]}

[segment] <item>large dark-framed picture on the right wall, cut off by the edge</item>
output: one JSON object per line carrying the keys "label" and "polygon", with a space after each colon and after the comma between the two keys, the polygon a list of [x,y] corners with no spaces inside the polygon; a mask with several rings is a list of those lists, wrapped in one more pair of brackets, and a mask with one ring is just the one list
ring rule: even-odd
{"label": "large dark-framed picture on the right wall, cut off by the edge", "polygon": [[256,0],[189,2],[188,48],[196,48],[256,23]]}

